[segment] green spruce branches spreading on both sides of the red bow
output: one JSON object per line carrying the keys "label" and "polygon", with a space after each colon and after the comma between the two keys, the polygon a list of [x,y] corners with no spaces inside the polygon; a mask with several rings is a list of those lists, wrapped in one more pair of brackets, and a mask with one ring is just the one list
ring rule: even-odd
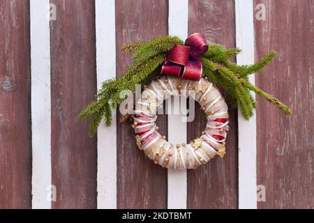
{"label": "green spruce branches spreading on both sides of the red bow", "polygon": [[[183,43],[184,41],[177,36],[161,36],[147,43],[130,42],[124,45],[122,47],[124,52],[133,53],[133,63],[121,78],[112,78],[103,82],[96,94],[96,100],[87,105],[78,116],[80,121],[91,117],[90,136],[95,134],[102,120],[105,125],[111,125],[112,109],[115,109],[127,97],[127,95],[121,97],[121,92],[134,91],[136,84],[146,82],[154,70],[162,65],[167,56],[167,50],[175,44]],[[200,56],[203,65],[202,77],[208,77],[213,84],[220,85],[227,93],[227,98],[234,102],[246,119],[253,116],[253,109],[256,108],[251,91],[268,100],[285,114],[291,115],[292,111],[287,105],[248,82],[248,75],[262,70],[274,59],[276,52],[270,52],[253,65],[238,66],[237,63],[230,61],[230,58],[240,52],[239,48],[226,49],[223,45],[209,43],[208,51]]]}

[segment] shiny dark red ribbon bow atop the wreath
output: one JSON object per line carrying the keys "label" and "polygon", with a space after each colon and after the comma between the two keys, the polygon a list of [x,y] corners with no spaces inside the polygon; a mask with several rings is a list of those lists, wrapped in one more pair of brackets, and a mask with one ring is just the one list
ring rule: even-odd
{"label": "shiny dark red ribbon bow atop the wreath", "polygon": [[163,66],[162,75],[174,75],[198,81],[202,77],[202,61],[197,57],[207,52],[207,41],[201,33],[188,36],[184,45],[174,45]]}

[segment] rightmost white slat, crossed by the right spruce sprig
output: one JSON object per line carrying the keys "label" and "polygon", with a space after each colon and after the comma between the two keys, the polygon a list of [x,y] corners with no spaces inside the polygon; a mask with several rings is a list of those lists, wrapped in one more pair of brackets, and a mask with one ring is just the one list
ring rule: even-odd
{"label": "rightmost white slat, crossed by the right spruce sprig", "polygon": [[[236,41],[243,50],[237,63],[254,63],[253,0],[235,0]],[[250,82],[255,84],[251,75]],[[255,95],[253,95],[255,97]],[[256,183],[256,115],[245,121],[239,117],[239,208],[257,208]]]}

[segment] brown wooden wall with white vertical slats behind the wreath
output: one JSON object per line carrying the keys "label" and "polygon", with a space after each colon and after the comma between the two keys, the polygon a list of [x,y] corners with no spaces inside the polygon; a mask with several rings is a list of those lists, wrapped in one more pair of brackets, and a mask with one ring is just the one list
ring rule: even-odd
{"label": "brown wooden wall with white vertical slats behind the wreath", "polygon": [[[313,0],[1,1],[0,208],[314,208],[313,19]],[[121,45],[178,30],[244,45],[253,50],[244,59],[275,49],[255,84],[294,114],[257,97],[255,136],[230,106],[227,155],[176,179],[136,148],[119,112],[94,138],[77,114],[130,64]],[[184,124],[188,141],[205,125],[195,109]],[[167,115],[158,126],[174,131]],[[246,154],[239,145],[251,141]],[[239,163],[243,157],[253,166]]]}

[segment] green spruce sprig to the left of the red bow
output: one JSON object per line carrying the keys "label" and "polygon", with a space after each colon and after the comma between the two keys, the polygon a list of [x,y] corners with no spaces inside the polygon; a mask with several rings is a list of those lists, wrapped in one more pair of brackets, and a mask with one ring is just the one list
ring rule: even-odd
{"label": "green spruce sprig to the left of the red bow", "polygon": [[83,121],[91,117],[89,135],[92,137],[98,129],[102,119],[106,126],[112,123],[112,109],[123,102],[127,95],[121,97],[123,91],[134,91],[136,84],[143,84],[156,70],[167,56],[167,50],[174,44],[183,44],[176,36],[162,36],[148,43],[131,42],[124,45],[124,52],[133,52],[133,63],[126,69],[119,79],[108,79],[103,82],[96,95],[96,100],[91,102],[80,112],[78,118]]}

